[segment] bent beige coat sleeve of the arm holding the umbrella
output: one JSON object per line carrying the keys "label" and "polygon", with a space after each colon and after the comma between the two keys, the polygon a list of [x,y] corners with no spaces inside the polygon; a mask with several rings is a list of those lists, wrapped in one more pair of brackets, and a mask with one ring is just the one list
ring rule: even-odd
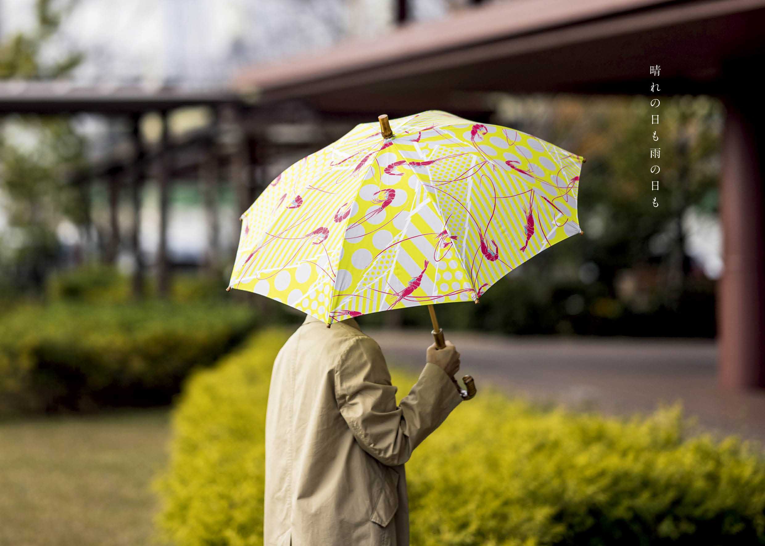
{"label": "bent beige coat sleeve of the arm holding the umbrella", "polygon": [[372,338],[353,338],[335,366],[340,414],[356,441],[382,464],[404,464],[412,451],[444,422],[462,398],[451,378],[426,363],[419,380],[396,405],[396,387]]}

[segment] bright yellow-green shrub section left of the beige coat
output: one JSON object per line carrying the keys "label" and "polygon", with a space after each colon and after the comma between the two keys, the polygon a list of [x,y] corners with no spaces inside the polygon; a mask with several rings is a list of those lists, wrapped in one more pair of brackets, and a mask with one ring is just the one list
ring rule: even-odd
{"label": "bright yellow-green shrub section left of the beige coat", "polygon": [[267,331],[194,374],[173,416],[158,522],[173,544],[262,544],[265,405],[287,339]]}

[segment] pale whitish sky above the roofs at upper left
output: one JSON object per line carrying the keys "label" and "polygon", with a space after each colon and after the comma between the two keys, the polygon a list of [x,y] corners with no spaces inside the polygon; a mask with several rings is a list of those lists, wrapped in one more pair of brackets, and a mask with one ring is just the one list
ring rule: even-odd
{"label": "pale whitish sky above the roofs at upper left", "polygon": [[[466,0],[415,0],[415,19]],[[78,0],[46,54],[86,53],[82,82],[214,86],[246,63],[368,37],[392,24],[392,0]],[[0,0],[0,31],[34,26],[34,0]]]}

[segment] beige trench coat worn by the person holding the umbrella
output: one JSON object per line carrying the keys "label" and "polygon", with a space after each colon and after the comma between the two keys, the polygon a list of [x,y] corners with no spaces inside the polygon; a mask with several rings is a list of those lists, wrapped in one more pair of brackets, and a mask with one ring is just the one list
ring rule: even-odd
{"label": "beige trench coat worn by the person holding the umbrella", "polygon": [[265,544],[407,546],[404,463],[461,400],[426,363],[396,405],[382,351],[353,318],[332,328],[306,318],[271,379]]}

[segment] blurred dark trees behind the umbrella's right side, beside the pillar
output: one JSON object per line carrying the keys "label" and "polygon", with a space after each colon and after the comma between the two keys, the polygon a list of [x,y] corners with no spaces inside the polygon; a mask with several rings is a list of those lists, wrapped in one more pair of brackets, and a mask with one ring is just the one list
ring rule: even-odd
{"label": "blurred dark trees behind the umbrella's right side, beside the pillar", "polygon": [[[493,123],[587,157],[583,237],[500,279],[473,303],[440,305],[445,327],[516,334],[715,335],[715,281],[688,257],[689,212],[717,212],[722,107],[709,97],[496,96]],[[659,114],[660,124],[651,124]],[[658,141],[653,141],[657,131]],[[650,148],[661,148],[652,160]],[[652,165],[660,172],[652,174]],[[659,190],[651,183],[659,181]],[[658,207],[653,206],[653,197]],[[363,317],[368,325],[383,318]],[[405,325],[427,325],[406,309]]]}

